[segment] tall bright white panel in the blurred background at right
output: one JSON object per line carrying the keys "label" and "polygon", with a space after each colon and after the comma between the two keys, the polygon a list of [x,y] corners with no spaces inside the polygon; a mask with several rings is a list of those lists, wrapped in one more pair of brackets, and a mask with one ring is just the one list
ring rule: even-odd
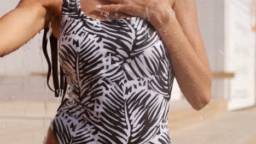
{"label": "tall bright white panel in the blurred background at right", "polygon": [[228,110],[255,104],[255,33],[251,29],[251,0],[226,0],[226,69],[235,71],[230,81]]}

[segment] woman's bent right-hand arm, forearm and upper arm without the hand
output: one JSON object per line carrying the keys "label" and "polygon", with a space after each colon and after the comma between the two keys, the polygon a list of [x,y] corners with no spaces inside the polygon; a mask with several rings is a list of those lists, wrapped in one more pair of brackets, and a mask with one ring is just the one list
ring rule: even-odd
{"label": "woman's bent right-hand arm, forearm and upper arm without the hand", "polygon": [[176,0],[174,15],[155,23],[168,49],[178,85],[195,110],[211,100],[212,73],[206,56],[194,0]]}

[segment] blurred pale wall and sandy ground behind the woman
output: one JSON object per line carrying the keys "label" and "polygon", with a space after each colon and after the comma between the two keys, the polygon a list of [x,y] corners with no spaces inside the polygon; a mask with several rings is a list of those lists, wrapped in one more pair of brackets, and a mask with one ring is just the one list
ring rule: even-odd
{"label": "blurred pale wall and sandy ground behind the woman", "polygon": [[[18,2],[1,1],[0,17]],[[196,4],[213,74],[212,100],[196,111],[174,81],[168,116],[171,142],[256,144],[256,5],[253,0],[196,0]],[[61,99],[46,85],[42,39],[43,31],[0,58],[1,143],[43,143],[60,105]],[[51,79],[49,83],[53,87]]]}

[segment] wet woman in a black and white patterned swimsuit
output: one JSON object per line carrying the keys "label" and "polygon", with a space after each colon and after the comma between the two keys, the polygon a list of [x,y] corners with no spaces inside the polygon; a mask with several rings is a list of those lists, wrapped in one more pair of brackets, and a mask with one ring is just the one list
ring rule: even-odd
{"label": "wet woman in a black and white patterned swimsuit", "polygon": [[[100,14],[108,12],[118,16]],[[1,56],[44,28],[45,38],[50,22],[55,95],[56,53],[61,93],[70,86],[45,143],[171,143],[174,75],[195,110],[210,102],[212,76],[194,0],[22,0],[0,19]]]}

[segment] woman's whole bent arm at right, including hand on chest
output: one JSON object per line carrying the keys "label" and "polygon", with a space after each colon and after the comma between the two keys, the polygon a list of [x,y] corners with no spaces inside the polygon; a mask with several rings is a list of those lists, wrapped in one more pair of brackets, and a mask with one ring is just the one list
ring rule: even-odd
{"label": "woman's whole bent arm at right, including hand on chest", "polygon": [[102,11],[120,11],[152,23],[170,54],[172,68],[185,98],[195,110],[211,100],[212,73],[197,24],[195,0],[109,0]]}

